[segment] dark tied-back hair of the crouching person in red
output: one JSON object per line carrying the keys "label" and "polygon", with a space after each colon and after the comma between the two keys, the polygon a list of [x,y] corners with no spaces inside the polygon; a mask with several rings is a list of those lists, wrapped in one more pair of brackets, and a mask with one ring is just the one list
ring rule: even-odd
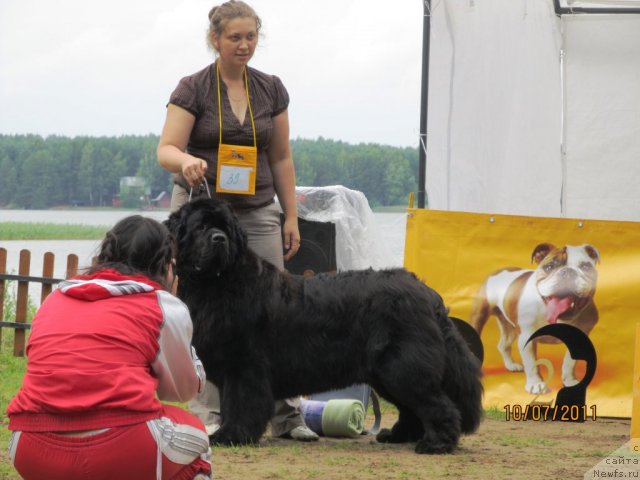
{"label": "dark tied-back hair of the crouching person in red", "polygon": [[87,273],[113,268],[125,275],[144,275],[169,289],[167,269],[175,248],[175,239],[166,226],[152,218],[131,215],[107,232]]}

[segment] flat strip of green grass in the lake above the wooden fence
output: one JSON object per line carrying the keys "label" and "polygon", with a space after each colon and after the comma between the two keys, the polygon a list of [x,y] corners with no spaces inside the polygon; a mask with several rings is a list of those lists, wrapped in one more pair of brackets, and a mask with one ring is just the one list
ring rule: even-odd
{"label": "flat strip of green grass in the lake above the wooden fence", "polygon": [[0,240],[100,240],[108,226],[0,222]]}

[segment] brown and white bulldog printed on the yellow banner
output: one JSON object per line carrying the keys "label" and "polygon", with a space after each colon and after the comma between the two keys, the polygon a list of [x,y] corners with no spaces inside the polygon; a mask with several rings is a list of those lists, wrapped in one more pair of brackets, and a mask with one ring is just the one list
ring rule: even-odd
{"label": "brown and white bulldog printed on the yellow banner", "polygon": [[[491,315],[498,319],[498,350],[504,366],[512,372],[524,370],[525,389],[540,394],[550,390],[538,371],[536,343],[557,340],[541,337],[525,344],[536,330],[550,323],[568,323],[589,334],[598,321],[593,295],[600,255],[591,245],[558,248],[542,243],[533,250],[531,261],[538,264],[535,270],[506,268],[487,277],[476,296],[470,323],[480,334]],[[523,365],[511,356],[516,339]],[[575,360],[567,352],[562,362],[565,386],[578,383],[574,367]]]}

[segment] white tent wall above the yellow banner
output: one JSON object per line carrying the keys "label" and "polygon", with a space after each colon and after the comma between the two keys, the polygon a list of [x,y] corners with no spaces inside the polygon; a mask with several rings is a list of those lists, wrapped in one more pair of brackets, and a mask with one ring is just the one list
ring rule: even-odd
{"label": "white tent wall above the yellow banner", "polygon": [[427,7],[428,207],[639,221],[640,2]]}

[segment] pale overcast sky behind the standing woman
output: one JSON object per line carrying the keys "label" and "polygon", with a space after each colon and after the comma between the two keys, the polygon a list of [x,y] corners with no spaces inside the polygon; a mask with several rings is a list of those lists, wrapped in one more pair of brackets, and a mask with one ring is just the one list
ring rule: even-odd
{"label": "pale overcast sky behind the standing woman", "polygon": [[[0,134],[159,135],[214,60],[202,0],[0,0]],[[279,76],[291,138],[417,147],[420,0],[248,0],[250,65]]]}

